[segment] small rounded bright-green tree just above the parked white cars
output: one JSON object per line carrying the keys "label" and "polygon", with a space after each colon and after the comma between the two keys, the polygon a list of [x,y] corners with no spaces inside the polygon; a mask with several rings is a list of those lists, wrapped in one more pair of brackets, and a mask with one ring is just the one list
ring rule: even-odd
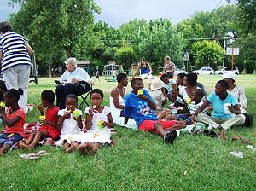
{"label": "small rounded bright-green tree just above the parked white cars", "polygon": [[195,67],[216,68],[218,62],[222,61],[224,50],[215,41],[199,41],[192,44]]}

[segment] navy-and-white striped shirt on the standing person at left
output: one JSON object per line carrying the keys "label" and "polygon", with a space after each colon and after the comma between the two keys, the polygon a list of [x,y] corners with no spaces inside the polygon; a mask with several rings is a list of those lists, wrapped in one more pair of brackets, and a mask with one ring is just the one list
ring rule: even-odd
{"label": "navy-and-white striped shirt on the standing person at left", "polygon": [[32,65],[26,44],[26,38],[16,32],[6,32],[0,37],[0,51],[3,52],[2,73],[18,65]]}

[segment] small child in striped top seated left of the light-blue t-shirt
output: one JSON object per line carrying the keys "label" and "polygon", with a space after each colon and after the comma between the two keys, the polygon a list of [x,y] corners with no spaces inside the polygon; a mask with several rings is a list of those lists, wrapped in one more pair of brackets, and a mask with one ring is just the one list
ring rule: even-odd
{"label": "small child in striped top seated left of the light-blue t-shirt", "polygon": [[[183,114],[178,114],[177,119],[184,120],[186,124],[193,124],[191,121],[191,114],[195,113],[195,110],[201,107],[203,104],[203,97],[205,93],[201,89],[193,90],[191,95],[191,103],[186,103],[183,109]],[[189,105],[188,105],[189,104]]]}

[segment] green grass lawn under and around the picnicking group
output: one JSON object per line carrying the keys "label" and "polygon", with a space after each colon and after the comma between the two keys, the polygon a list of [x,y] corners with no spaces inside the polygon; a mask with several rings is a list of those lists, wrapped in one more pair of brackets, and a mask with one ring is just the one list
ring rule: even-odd
{"label": "green grass lawn under and around the picnicking group", "polygon": [[[199,82],[209,93],[219,79],[200,76]],[[109,105],[115,83],[101,80],[94,88],[104,91],[103,104]],[[239,75],[236,81],[246,90],[247,112],[256,118],[256,75]],[[39,78],[38,85],[30,84],[29,103],[38,104],[45,89],[55,90],[53,78]],[[26,121],[34,122],[38,116],[35,108]],[[255,190],[256,152],[246,144],[230,141],[232,136],[242,136],[256,142],[255,126],[228,131],[227,141],[184,135],[173,145],[150,133],[116,127],[116,147],[101,148],[86,157],[44,146],[35,151],[45,149],[49,156],[25,160],[19,154],[29,152],[16,149],[0,158],[0,190]],[[242,151],[244,158],[231,156],[230,151],[235,150]]]}

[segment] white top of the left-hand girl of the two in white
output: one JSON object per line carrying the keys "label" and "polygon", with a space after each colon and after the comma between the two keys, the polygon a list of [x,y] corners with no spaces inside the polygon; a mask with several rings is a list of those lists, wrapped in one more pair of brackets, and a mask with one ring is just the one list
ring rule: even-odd
{"label": "white top of the left-hand girl of the two in white", "polygon": [[[79,109],[75,109],[75,111],[79,111],[79,116],[82,115],[82,111]],[[63,116],[64,113],[67,113],[67,108],[61,109],[58,112],[58,116]],[[65,119],[61,128],[61,135],[71,135],[71,134],[79,134],[80,128],[78,122],[73,119],[73,113],[70,113],[70,118]]]}

